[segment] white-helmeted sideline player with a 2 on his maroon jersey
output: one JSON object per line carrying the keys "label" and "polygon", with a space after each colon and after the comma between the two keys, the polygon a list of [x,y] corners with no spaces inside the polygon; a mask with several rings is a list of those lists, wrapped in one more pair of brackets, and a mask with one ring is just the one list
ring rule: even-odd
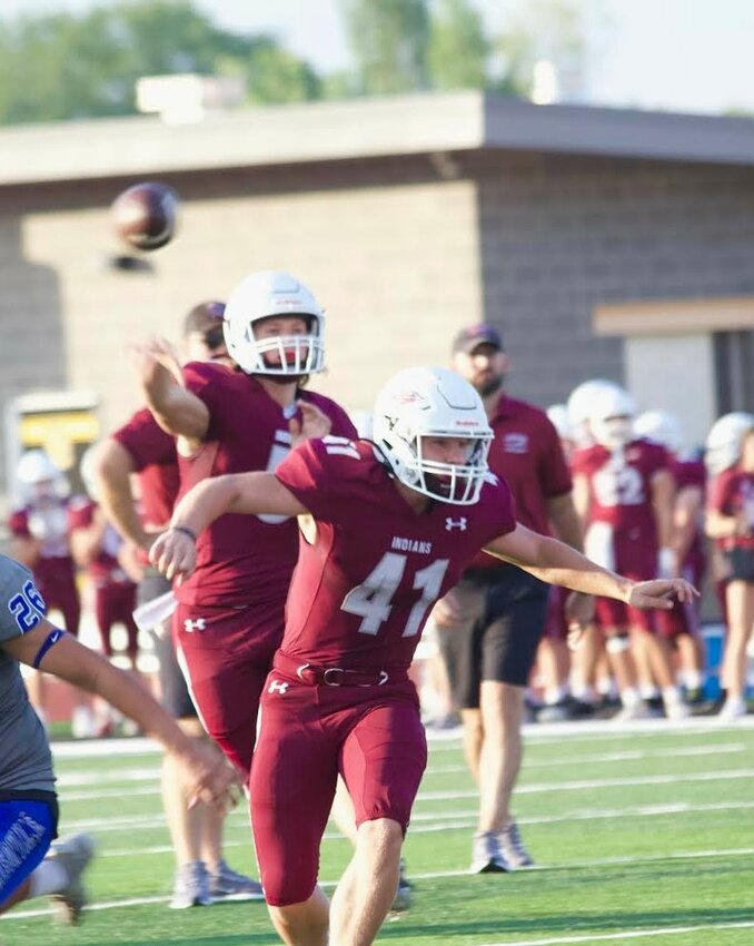
{"label": "white-helmeted sideline player with a 2 on his maroon jersey", "polygon": [[[596,443],[574,455],[574,493],[588,523],[587,554],[607,568],[648,579],[674,572],[669,541],[675,486],[665,447],[634,437],[635,414],[634,398],[623,388],[604,388],[593,398],[588,418]],[[606,599],[597,601],[596,615],[606,634],[622,718],[646,715],[632,652],[645,684],[654,679],[662,688],[667,716],[687,715],[654,615]]]}

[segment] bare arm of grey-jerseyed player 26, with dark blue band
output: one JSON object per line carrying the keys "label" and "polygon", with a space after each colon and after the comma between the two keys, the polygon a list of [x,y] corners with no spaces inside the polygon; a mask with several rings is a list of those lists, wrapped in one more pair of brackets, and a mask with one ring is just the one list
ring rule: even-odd
{"label": "bare arm of grey-jerseyed player 26, with dark blue band", "polygon": [[101,654],[46,619],[24,634],[4,641],[2,648],[22,663],[97,693],[153,736],[168,752],[180,759],[190,799],[222,808],[235,804],[240,786],[238,772],[211,747],[190,739],[143,683],[113,667]]}

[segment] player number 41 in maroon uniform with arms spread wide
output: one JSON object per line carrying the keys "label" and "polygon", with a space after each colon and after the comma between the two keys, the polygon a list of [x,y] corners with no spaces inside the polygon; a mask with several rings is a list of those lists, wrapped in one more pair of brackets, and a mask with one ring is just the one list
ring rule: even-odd
{"label": "player number 41 in maroon uniform with arms spread wide", "polygon": [[[479,549],[635,608],[696,593],[681,579],[629,581],[517,524],[509,489],[488,473],[492,436],[467,382],[409,368],[378,397],[374,443],[309,440],[274,473],[205,481],[152,548],[168,577],[189,575],[201,555],[196,536],[222,515],[312,518],[264,688],[250,779],[265,895],[289,946],[325,946],[328,927],[330,942],[349,946],[377,935],[426,765],[407,671],[429,610]],[[317,870],[339,772],[359,827],[330,909]]]}

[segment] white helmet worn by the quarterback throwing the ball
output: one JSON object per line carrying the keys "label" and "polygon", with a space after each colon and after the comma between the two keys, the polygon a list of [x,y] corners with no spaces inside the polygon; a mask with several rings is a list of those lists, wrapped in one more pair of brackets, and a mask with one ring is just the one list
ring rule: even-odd
{"label": "white helmet worn by the quarterback throwing the ball", "polygon": [[[274,315],[301,315],[309,323],[306,335],[255,337],[255,323]],[[299,377],[325,367],[325,315],[309,289],[289,273],[264,269],[236,286],[222,322],[228,352],[247,374]],[[279,365],[267,365],[265,355],[276,352]]]}

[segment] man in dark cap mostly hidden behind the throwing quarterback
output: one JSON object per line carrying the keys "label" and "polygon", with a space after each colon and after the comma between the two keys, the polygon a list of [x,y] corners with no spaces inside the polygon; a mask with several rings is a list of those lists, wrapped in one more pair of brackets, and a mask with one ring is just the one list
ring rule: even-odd
{"label": "man in dark cap mostly hidden behind the throwing quarterback", "polygon": [[[230,364],[222,336],[221,302],[204,302],[186,315],[182,349],[188,361]],[[179,368],[176,366],[175,371]],[[98,445],[93,476],[102,510],[120,534],[140,550],[143,574],[139,604],[170,592],[170,582],[149,564],[147,552],[155,535],[170,522],[178,495],[179,473],[175,437],[161,430],[150,411],[131,418]],[[138,481],[139,500],[132,481]],[[186,735],[200,745],[219,748],[207,736],[176,658],[168,613],[156,620],[150,634],[159,663],[161,700]],[[180,769],[168,752],[162,758],[162,808],[168,822],[176,877],[170,907],[185,909],[227,899],[261,899],[261,885],[234,870],[225,859],[225,814],[206,805],[189,805]]]}

